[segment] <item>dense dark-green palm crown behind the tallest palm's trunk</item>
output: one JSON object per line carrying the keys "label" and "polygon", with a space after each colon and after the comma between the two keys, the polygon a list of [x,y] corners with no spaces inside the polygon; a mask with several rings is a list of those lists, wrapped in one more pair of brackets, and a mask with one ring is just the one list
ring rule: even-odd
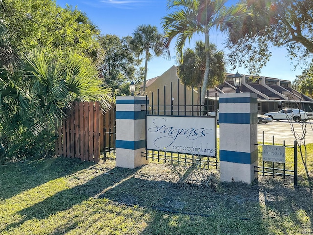
{"label": "dense dark-green palm crown behind the tallest palm's trunk", "polygon": [[[218,50],[215,44],[210,43],[210,75],[208,87],[224,82],[226,67],[224,52]],[[183,54],[183,62],[178,67],[180,80],[187,86],[201,87],[205,73],[205,43],[197,41],[194,49],[187,48]]]}

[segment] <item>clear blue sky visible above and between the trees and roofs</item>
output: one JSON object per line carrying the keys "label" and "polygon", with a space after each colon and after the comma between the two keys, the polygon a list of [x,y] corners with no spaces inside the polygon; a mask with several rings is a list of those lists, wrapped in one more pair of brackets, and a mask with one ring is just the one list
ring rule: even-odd
{"label": "clear blue sky visible above and between the trees and roofs", "polygon": [[[229,0],[235,4],[237,0]],[[167,0],[56,0],[57,5],[65,7],[66,4],[78,10],[86,12],[89,19],[101,30],[101,34],[116,34],[120,37],[132,35],[134,29],[140,24],[151,24],[158,27],[162,32],[161,19],[167,14]],[[194,38],[190,46],[194,47]],[[218,45],[223,50],[225,36],[220,32],[212,32],[210,41]],[[203,38],[204,41],[204,38]],[[174,43],[171,46],[171,60],[162,57],[153,58],[148,62],[147,79],[161,75],[172,65],[176,65]],[[224,52],[226,52],[224,50]],[[285,49],[273,49],[272,58],[267,66],[261,70],[261,76],[274,77],[293,81],[296,75],[300,75],[302,70],[293,69],[291,61],[286,57]],[[241,74],[247,74],[244,68],[236,68]],[[236,71],[230,71],[235,73]]]}

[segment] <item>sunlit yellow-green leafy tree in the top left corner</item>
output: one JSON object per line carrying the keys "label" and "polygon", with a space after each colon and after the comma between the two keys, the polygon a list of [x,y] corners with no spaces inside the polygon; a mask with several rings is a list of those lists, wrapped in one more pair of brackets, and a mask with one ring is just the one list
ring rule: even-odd
{"label": "sunlit yellow-green leafy tree in the top left corner", "polygon": [[63,9],[53,0],[5,0],[2,12],[11,45],[20,54],[44,47],[66,57],[74,48],[94,61],[103,58],[98,28],[77,9]]}

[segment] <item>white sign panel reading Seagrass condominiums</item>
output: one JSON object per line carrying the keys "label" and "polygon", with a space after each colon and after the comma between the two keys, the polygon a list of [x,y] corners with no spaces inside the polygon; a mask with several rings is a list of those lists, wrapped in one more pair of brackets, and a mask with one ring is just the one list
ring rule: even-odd
{"label": "white sign panel reading Seagrass condominiums", "polygon": [[215,156],[215,118],[147,116],[147,149]]}

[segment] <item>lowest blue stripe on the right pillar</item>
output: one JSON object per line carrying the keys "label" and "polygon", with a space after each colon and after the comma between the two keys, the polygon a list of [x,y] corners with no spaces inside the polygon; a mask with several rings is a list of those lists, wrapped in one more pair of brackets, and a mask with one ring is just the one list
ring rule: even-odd
{"label": "lowest blue stripe on the right pillar", "polygon": [[252,164],[258,159],[258,149],[252,153],[220,150],[220,161]]}

